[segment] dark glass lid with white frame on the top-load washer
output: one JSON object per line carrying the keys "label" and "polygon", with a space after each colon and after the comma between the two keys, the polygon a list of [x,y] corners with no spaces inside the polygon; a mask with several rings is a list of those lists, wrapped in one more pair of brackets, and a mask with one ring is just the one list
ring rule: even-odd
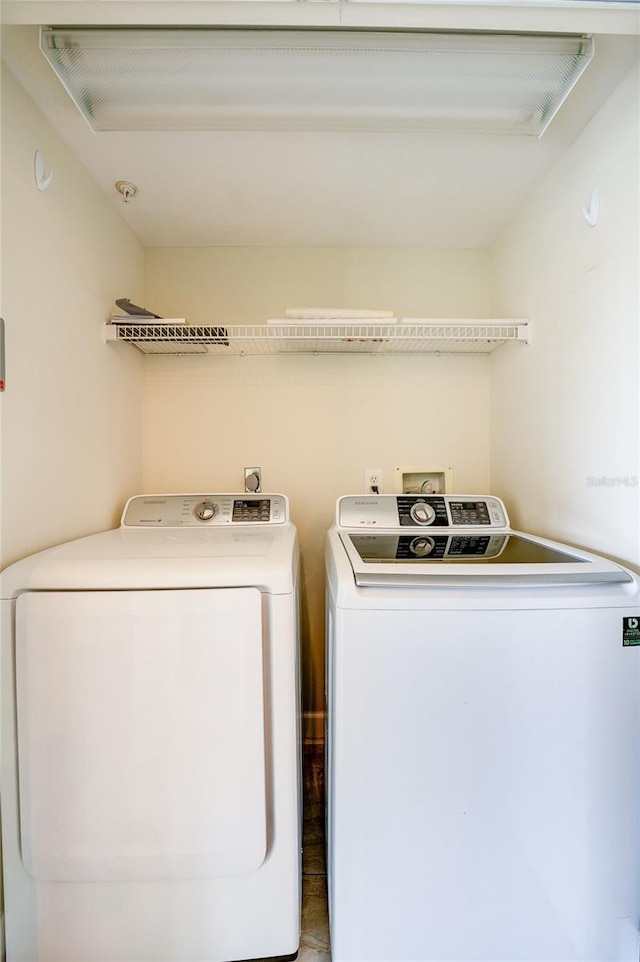
{"label": "dark glass lid with white frame on the top-load washer", "polygon": [[360,586],[628,582],[628,571],[577,548],[479,528],[339,531]]}

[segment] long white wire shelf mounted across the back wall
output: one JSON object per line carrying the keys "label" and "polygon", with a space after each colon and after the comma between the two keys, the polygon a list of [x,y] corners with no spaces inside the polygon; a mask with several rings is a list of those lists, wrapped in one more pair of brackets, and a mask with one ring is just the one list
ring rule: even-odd
{"label": "long white wire shelf mounted across the back wall", "polygon": [[107,341],[144,354],[490,354],[528,343],[528,321],[465,320],[398,324],[277,322],[263,325],[106,324]]}

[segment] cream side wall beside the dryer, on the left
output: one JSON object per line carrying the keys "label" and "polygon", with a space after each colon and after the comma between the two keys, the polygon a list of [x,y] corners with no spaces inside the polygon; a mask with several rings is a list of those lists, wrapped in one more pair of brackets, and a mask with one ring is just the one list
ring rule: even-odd
{"label": "cream side wall beside the dryer, on the left", "polygon": [[[53,171],[43,191],[36,150]],[[3,566],[114,526],[141,487],[141,359],[105,345],[102,324],[142,281],[140,244],[4,70]]]}

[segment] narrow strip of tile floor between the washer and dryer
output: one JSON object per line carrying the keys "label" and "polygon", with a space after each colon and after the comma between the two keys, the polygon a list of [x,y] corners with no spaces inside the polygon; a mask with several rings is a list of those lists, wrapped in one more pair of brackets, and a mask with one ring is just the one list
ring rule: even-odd
{"label": "narrow strip of tile floor between the washer and dryer", "polygon": [[324,744],[303,749],[302,938],[298,962],[331,962],[327,916],[324,820]]}

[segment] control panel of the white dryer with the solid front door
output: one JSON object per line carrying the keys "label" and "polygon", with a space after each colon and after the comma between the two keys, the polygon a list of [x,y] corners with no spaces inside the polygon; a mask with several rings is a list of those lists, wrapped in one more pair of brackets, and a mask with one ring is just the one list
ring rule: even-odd
{"label": "control panel of the white dryer with the solid front door", "polygon": [[127,501],[120,523],[123,528],[207,528],[288,520],[283,494],[141,494]]}

